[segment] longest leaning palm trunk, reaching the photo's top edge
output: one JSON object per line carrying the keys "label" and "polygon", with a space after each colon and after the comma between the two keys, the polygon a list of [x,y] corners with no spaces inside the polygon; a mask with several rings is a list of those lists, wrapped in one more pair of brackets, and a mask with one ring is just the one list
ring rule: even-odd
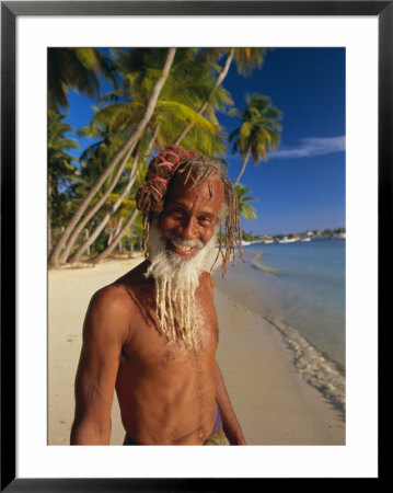
{"label": "longest leaning palm trunk, reaching the photo's top edge", "polygon": [[[129,149],[134,146],[137,145],[140,136],[142,135],[146,126],[148,125],[154,107],[157,105],[157,101],[159,99],[159,95],[161,93],[161,89],[167,78],[167,74],[171,70],[174,57],[175,57],[175,53],[176,53],[176,48],[170,48],[167,51],[167,56],[166,56],[166,60],[165,60],[165,65],[164,68],[162,70],[162,74],[160,77],[160,79],[158,80],[158,82],[154,85],[154,89],[151,93],[149,103],[147,105],[146,112],[141,118],[141,121],[139,122],[137,128],[135,129],[135,131],[131,134],[131,136],[126,140],[126,142],[120,147],[120,149],[115,153],[115,156],[112,158],[108,167],[106,168],[106,170],[103,172],[103,174],[100,176],[100,179],[96,181],[95,185],[91,188],[90,193],[86,195],[86,197],[84,198],[84,200],[82,202],[82,204],[79,206],[78,210],[76,211],[76,214],[73,215],[72,219],[70,220],[70,222],[68,223],[67,228],[65,229],[65,232],[62,233],[61,238],[59,239],[59,241],[57,242],[56,246],[54,248],[54,251],[49,257],[49,264],[50,265],[58,265],[59,263],[59,256],[61,251],[63,250],[63,248],[66,246],[66,242],[69,239],[69,237],[71,236],[72,231],[74,230],[74,228],[77,227],[79,220],[81,219],[81,217],[83,216],[84,211],[86,210],[90,202],[94,198],[94,196],[99,193],[101,186],[104,184],[105,180],[107,179],[107,176],[111,174],[111,172],[116,168],[117,163],[120,161],[120,159],[127,153],[127,151],[129,151]],[[66,259],[67,261],[67,259]]]}

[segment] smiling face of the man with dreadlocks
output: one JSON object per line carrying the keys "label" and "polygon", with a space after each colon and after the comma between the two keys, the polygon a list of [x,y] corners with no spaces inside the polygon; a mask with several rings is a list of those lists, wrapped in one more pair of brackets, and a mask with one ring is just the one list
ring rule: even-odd
{"label": "smiling face of the man with dreadlocks", "polygon": [[216,231],[217,218],[224,199],[224,190],[218,176],[190,187],[184,184],[184,173],[174,176],[159,229],[167,250],[192,259],[204,248]]}

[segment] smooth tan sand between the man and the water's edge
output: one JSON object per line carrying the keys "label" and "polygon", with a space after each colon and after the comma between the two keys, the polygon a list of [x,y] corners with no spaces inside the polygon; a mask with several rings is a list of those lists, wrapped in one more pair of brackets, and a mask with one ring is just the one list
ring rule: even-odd
{"label": "smooth tan sand between the man and the water's edge", "polygon": [[216,289],[218,362],[248,445],[345,445],[342,413],[293,365],[279,331]]}

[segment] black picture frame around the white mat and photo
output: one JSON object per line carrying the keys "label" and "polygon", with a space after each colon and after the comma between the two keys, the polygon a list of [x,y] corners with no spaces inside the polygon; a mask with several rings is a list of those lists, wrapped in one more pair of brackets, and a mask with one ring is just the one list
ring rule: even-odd
{"label": "black picture frame around the white mat and photo", "polygon": [[[15,445],[15,23],[19,15],[371,15],[379,23],[379,291],[392,265],[393,1],[5,1],[1,2],[1,491],[218,491],[248,479],[16,478]],[[383,268],[381,268],[383,266]],[[388,267],[388,268],[386,268]],[[379,298],[379,326],[388,319]],[[379,363],[379,369],[381,369]],[[380,372],[380,371],[379,371]],[[379,479],[382,471],[380,469]],[[251,480],[251,479],[250,479]]]}

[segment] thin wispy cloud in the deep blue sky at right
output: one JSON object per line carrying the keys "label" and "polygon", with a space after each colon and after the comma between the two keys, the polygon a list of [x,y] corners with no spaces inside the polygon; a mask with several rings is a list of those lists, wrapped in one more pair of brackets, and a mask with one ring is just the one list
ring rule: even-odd
{"label": "thin wispy cloud in the deep blue sky at right", "polygon": [[270,159],[312,158],[345,151],[345,136],[339,137],[307,137],[299,140],[298,146],[281,147],[269,154]]}

